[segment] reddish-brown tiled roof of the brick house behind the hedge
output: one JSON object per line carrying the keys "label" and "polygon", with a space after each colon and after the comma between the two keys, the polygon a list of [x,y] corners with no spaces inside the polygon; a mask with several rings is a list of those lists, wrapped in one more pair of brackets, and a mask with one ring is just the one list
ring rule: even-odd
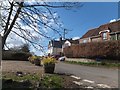
{"label": "reddish-brown tiled roof of the brick house behind the hedge", "polygon": [[98,28],[91,29],[87,33],[85,33],[80,39],[98,36],[99,32],[103,31],[103,30],[110,30],[110,33],[120,31],[120,20],[118,20],[116,22],[101,25]]}

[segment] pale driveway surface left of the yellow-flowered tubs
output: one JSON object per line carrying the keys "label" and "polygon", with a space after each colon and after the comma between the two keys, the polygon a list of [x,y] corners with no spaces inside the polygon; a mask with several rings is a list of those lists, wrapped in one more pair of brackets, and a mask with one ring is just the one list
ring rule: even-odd
{"label": "pale driveway surface left of the yellow-flowered tubs", "polygon": [[22,71],[26,73],[39,73],[43,71],[42,66],[35,66],[29,61],[10,61],[2,60],[2,72],[17,72]]}

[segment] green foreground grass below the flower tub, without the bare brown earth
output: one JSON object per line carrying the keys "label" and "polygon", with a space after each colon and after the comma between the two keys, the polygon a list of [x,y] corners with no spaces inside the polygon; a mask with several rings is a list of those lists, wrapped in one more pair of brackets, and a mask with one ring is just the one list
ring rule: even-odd
{"label": "green foreground grass below the flower tub, without the bare brown earth", "polygon": [[[60,88],[62,87],[62,77],[56,74],[45,74],[43,77],[38,74],[27,74],[22,77],[16,76],[15,73],[5,73],[2,77],[4,80],[3,88],[34,88],[39,82],[40,88]],[[13,80],[12,83],[5,83],[7,80]],[[28,83],[24,84],[21,81],[24,80]]]}

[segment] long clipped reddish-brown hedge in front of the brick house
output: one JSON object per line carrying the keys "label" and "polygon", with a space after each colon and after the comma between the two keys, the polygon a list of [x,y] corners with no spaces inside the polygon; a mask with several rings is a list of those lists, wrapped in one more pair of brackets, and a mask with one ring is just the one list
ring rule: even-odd
{"label": "long clipped reddish-brown hedge in front of the brick house", "polygon": [[72,45],[64,48],[64,55],[68,58],[119,59],[120,40]]}

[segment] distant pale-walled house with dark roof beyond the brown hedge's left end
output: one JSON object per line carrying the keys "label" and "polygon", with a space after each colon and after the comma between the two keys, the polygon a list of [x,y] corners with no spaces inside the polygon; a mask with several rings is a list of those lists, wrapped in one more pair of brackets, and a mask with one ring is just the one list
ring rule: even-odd
{"label": "distant pale-walled house with dark roof beyond the brown hedge's left end", "polygon": [[79,40],[62,40],[62,38],[60,38],[60,40],[51,40],[48,44],[48,53],[50,55],[61,55],[61,53],[63,53],[63,48],[74,44],[79,44]]}

